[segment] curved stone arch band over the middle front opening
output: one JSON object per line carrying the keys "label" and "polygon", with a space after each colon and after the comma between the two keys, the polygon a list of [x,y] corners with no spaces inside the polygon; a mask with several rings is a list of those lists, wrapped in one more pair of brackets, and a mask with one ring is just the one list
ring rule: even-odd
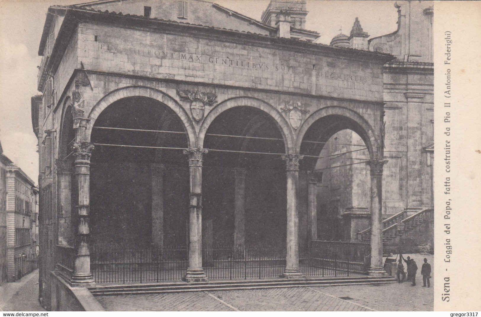
{"label": "curved stone arch band over the middle front opening", "polygon": [[291,127],[287,123],[286,119],[284,119],[284,117],[278,112],[278,110],[276,110],[276,108],[274,108],[274,106],[270,105],[266,101],[253,97],[234,97],[218,103],[215,108],[213,108],[209,114],[207,114],[202,123],[202,126],[199,130],[199,135],[197,137],[197,146],[203,147],[207,129],[219,114],[228,109],[241,106],[257,108],[264,111],[266,114],[269,114],[279,127],[279,131],[284,139],[286,153],[292,152],[294,149],[294,142],[292,140]]}

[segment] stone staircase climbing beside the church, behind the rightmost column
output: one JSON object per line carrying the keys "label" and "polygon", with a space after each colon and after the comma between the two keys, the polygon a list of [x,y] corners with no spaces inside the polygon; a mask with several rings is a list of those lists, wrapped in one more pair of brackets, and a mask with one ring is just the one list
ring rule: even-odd
{"label": "stone staircase climbing beside the church, behind the rightmost column", "polygon": [[[425,209],[413,215],[408,211],[402,211],[382,221],[382,242],[388,242],[401,234],[418,228],[427,221],[433,221],[434,210]],[[371,228],[357,233],[357,240],[362,242],[371,241]]]}

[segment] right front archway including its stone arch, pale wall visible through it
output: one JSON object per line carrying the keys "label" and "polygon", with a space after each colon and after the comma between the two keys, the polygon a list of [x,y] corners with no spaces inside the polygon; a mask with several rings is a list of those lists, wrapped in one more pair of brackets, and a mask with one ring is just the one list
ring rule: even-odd
{"label": "right front archway including its stone arch, pale wall visible through it", "polygon": [[[324,267],[336,274],[350,269],[366,273],[379,260],[376,252],[372,261],[372,245],[354,242],[357,231],[380,223],[384,161],[373,160],[382,157],[378,144],[362,117],[342,108],[321,109],[299,134],[297,145],[304,155],[300,169],[307,175],[309,257],[323,254]],[[366,165],[370,173],[361,168]],[[375,240],[380,248],[374,249],[381,250],[382,241]]]}

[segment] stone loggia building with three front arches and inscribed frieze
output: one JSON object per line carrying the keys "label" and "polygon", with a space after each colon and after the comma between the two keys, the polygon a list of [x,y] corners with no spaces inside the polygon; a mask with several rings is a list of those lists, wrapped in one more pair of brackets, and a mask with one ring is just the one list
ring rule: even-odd
{"label": "stone loggia building with three front arches and inscribed frieze", "polygon": [[204,0],[49,8],[43,94],[32,99],[45,306],[59,302],[58,278],[99,283],[93,259],[115,248],[185,248],[187,282],[212,278],[206,246],[278,248],[281,275],[303,276],[300,250],[328,230],[326,145],[346,130],[365,149],[355,180],[367,190],[365,273],[384,273],[382,178],[395,138],[384,120],[396,117],[386,65],[399,57],[386,38],[367,42],[358,20],[333,39],[342,45],[315,43],[306,15],[305,1],[290,0],[272,0],[262,21]]}

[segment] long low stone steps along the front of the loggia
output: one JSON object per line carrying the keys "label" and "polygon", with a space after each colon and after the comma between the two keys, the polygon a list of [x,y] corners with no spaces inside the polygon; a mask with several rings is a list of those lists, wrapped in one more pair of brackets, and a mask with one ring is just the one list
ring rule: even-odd
{"label": "long low stone steps along the front of the loggia", "polygon": [[217,280],[200,283],[165,282],[144,284],[101,285],[90,287],[89,291],[94,296],[120,295],[120,294],[152,294],[171,292],[202,292],[202,291],[229,291],[229,290],[254,290],[265,288],[283,288],[299,286],[335,286],[358,284],[384,284],[393,283],[391,276],[370,277],[324,277],[304,279],[256,279],[256,280]]}

